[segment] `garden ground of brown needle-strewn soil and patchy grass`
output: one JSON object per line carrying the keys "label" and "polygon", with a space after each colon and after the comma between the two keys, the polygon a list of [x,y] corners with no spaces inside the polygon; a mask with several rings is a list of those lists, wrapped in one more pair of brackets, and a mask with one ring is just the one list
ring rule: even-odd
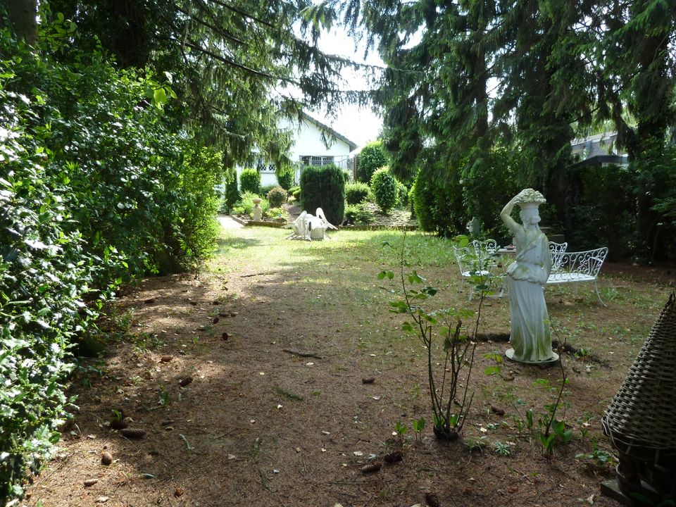
{"label": "garden ground of brown needle-strewn soil and patchy grass", "polygon": [[[377,280],[398,269],[403,234],[299,242],[287,233],[228,230],[198,275],[149,278],[120,296],[103,326],[108,353],[73,378],[80,411],[26,505],[408,507],[427,493],[441,506],[617,505],[599,496],[613,466],[602,463],[611,449],[600,418],[668,297],[670,273],[606,265],[607,307],[589,285],[547,289],[553,337],[569,351],[558,418],[572,430],[548,458],[537,420],[561,369],[496,363],[508,344],[488,338],[508,335],[507,298],[482,305],[463,439],[438,442],[425,350],[389,312],[401,286]],[[430,306],[478,309],[449,242],[408,233],[404,258],[439,289]],[[113,411],[145,436],[111,430]],[[397,423],[409,428],[402,437]],[[399,444],[403,460],[361,471]],[[576,458],[592,449],[596,461]],[[111,465],[101,464],[104,450]]]}

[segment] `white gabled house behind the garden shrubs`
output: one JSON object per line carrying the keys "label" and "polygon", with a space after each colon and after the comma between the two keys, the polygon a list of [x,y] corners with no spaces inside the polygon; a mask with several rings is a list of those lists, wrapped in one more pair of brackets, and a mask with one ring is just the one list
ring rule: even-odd
{"label": "white gabled house behind the garden shrubs", "polygon": [[[303,113],[300,122],[296,118],[283,118],[279,127],[292,131],[293,142],[289,149],[289,158],[296,164],[296,182],[300,180],[301,170],[305,165],[333,163],[340,168],[349,167],[349,154],[357,145],[328,125]],[[262,186],[277,184],[274,165],[260,160],[256,168],[261,173]],[[237,168],[238,178],[243,169]]]}

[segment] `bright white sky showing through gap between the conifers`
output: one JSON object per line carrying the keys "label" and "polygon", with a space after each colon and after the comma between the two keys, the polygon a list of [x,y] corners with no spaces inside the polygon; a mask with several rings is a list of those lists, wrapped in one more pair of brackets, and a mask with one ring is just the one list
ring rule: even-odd
{"label": "bright white sky showing through gap between the conifers", "polygon": [[[364,45],[354,49],[353,39],[347,35],[342,27],[334,27],[330,32],[322,35],[319,42],[320,49],[328,54],[336,54],[350,58],[360,63],[382,66],[384,63],[377,53],[372,52],[365,60],[363,58]],[[367,89],[365,79],[356,73],[346,73],[346,82],[342,89]],[[309,115],[325,125],[329,125],[339,134],[344,135],[357,146],[375,141],[382,129],[382,118],[374,114],[369,107],[342,106],[335,118],[327,116],[323,111],[307,111]]]}

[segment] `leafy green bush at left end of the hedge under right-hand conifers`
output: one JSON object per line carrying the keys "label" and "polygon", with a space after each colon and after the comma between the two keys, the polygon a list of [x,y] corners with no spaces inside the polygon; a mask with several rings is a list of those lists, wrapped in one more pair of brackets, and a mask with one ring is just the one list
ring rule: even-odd
{"label": "leafy green bush at left end of the hedge under right-hand conifers", "polygon": [[449,174],[446,182],[439,182],[433,169],[432,164],[427,164],[415,178],[415,215],[423,230],[444,237],[455,236],[464,227],[462,187],[454,173]]}

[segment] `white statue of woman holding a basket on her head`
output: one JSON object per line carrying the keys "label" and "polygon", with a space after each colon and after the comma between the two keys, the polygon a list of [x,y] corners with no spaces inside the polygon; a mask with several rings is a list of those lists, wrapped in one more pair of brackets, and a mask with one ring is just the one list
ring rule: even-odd
{"label": "white statue of woman holding a basket on her head", "polygon": [[[507,268],[512,346],[506,356],[522,363],[553,363],[558,354],[551,350],[549,314],[544,302],[544,285],[551,269],[549,241],[540,230],[538,206],[546,202],[533,189],[522,190],[500,213],[512,232],[516,260]],[[523,225],[511,218],[514,205],[521,208]]]}

